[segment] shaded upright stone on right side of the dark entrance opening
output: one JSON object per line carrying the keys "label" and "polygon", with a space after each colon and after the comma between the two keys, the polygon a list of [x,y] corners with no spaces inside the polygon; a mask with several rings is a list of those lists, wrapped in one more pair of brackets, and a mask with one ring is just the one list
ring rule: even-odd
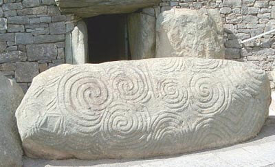
{"label": "shaded upright stone on right side of the dark entrance opening", "polygon": [[[155,13],[154,13],[155,14]],[[129,44],[133,60],[155,57],[155,16],[128,15]]]}

